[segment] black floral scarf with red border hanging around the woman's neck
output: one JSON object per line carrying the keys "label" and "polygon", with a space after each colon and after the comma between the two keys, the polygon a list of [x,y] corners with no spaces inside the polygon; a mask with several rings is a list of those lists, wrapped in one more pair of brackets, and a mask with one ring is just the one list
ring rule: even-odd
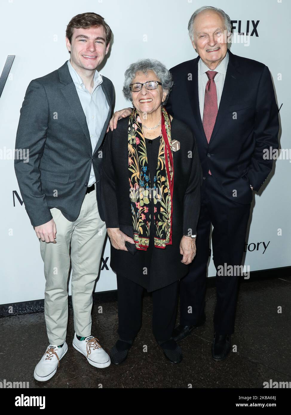
{"label": "black floral scarf with red border hanging around the woman's neck", "polygon": [[128,123],[128,173],[134,242],[137,249],[149,246],[150,203],[154,199],[154,246],[172,244],[174,165],[170,116],[161,108],[162,137],[154,183],[150,183],[142,121],[134,109]]}

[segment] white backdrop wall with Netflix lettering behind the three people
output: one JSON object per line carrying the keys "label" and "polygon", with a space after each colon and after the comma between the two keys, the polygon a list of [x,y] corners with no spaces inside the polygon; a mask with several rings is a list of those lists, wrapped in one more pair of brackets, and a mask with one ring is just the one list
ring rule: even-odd
{"label": "white backdrop wall with Netflix lettering behind the three people", "polygon": [[[194,10],[203,5],[205,2],[200,0],[0,1],[1,71],[7,55],[16,55],[0,98],[0,304],[44,298],[45,280],[39,240],[24,205],[21,206],[16,197],[14,206],[13,191],[19,195],[20,191],[13,159],[8,159],[8,151],[15,148],[20,107],[27,85],[32,79],[54,71],[69,59],[65,46],[68,22],[79,13],[96,12],[110,25],[114,34],[112,48],[100,73],[112,80],[116,91],[115,109],[120,109],[128,106],[121,91],[124,72],[130,63],[141,58],[154,58],[170,68],[197,56],[188,37],[187,26]],[[249,46],[236,42],[231,45],[231,51],[264,62],[269,67],[277,103],[279,107],[284,103],[280,111],[281,147],[289,149],[291,59],[288,39],[291,2],[213,0],[211,5],[222,8],[231,20],[237,21],[233,24],[234,34],[238,32],[239,21],[241,32],[246,32],[249,21],[251,33],[252,20],[259,20],[258,36],[254,33],[249,37]],[[238,39],[242,40],[242,36]],[[289,153],[291,157],[291,150]],[[290,160],[277,160],[274,170],[274,177],[267,179],[264,191],[254,198],[245,258],[250,271],[291,265]],[[106,257],[109,257],[109,266],[109,243],[105,247],[104,261]],[[215,268],[210,261],[208,276],[213,275]],[[104,267],[96,291],[114,289],[115,273]]]}

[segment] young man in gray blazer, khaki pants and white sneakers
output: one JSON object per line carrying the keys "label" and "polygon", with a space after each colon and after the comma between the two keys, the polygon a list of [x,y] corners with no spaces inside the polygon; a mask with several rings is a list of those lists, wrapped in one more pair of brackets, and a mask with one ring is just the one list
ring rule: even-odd
{"label": "young man in gray blazer, khaki pants and white sneakers", "polygon": [[29,149],[29,162],[15,160],[15,172],[40,239],[46,278],[49,346],[34,370],[38,381],[54,376],[68,350],[70,260],[73,347],[95,367],[110,365],[108,354],[91,335],[91,309],[106,235],[99,191],[100,146],[114,99],[112,82],[96,68],[108,53],[111,34],[100,15],[73,17],[66,29],[70,60],[31,81],[20,110],[15,148]]}

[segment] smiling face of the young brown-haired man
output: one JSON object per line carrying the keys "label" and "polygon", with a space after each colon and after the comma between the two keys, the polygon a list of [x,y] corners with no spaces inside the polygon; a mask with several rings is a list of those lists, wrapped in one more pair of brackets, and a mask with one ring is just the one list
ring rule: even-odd
{"label": "smiling face of the young brown-haired man", "polygon": [[74,29],[71,44],[66,37],[66,46],[71,51],[71,63],[80,70],[95,71],[108,54],[106,35],[103,26],[88,29]]}

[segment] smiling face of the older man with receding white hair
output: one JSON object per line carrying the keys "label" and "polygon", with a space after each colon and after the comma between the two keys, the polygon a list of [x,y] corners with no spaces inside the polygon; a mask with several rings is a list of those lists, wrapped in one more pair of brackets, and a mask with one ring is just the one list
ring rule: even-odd
{"label": "smiling face of the older man with receding white hair", "polygon": [[223,17],[213,10],[204,10],[194,20],[193,48],[209,69],[215,69],[227,53],[226,32]]}

